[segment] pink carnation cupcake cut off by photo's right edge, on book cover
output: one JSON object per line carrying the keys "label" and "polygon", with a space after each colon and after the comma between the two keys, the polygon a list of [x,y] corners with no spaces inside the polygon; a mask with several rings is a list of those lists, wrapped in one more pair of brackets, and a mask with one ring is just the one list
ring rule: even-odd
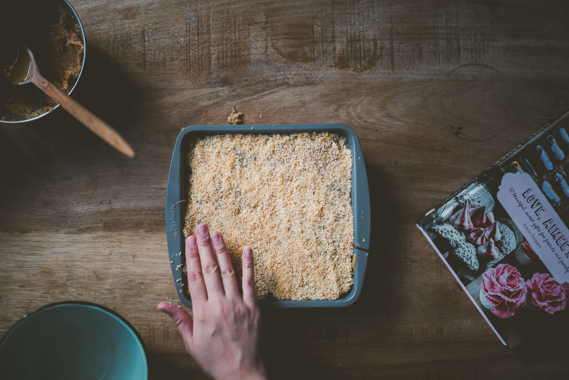
{"label": "pink carnation cupcake cut off by photo's right edge, on book cover", "polygon": [[526,287],[533,304],[543,311],[553,314],[567,305],[569,284],[560,284],[547,273],[535,273]]}

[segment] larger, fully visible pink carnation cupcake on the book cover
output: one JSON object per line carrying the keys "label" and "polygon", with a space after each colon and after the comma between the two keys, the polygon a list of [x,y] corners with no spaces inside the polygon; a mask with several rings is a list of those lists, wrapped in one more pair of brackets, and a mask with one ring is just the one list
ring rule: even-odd
{"label": "larger, fully visible pink carnation cupcake on the book cover", "polygon": [[500,264],[482,275],[480,301],[498,318],[509,318],[526,304],[525,285],[525,280],[515,267]]}

